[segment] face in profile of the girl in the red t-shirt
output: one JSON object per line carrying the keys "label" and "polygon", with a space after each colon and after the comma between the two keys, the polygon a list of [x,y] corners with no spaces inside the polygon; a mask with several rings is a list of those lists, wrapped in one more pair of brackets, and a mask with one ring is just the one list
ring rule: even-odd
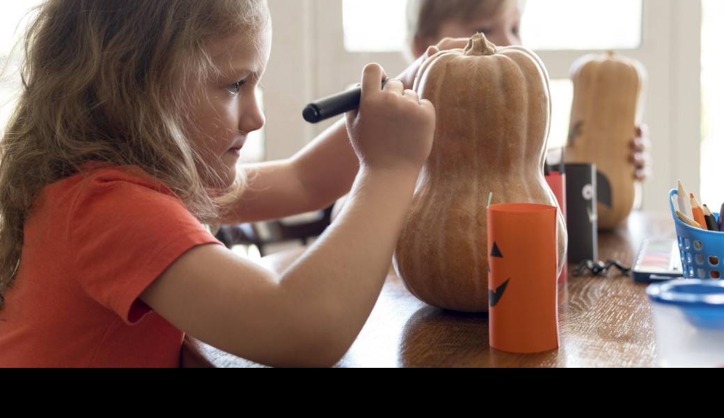
{"label": "face in profile of the girl in the red t-shirt", "polygon": [[[203,179],[210,188],[232,185],[247,135],[264,126],[264,114],[255,93],[269,62],[270,50],[269,25],[255,36],[237,33],[209,45],[219,76],[195,87],[199,105],[193,121],[198,135],[193,141],[203,162],[214,173]],[[201,170],[202,175],[204,172]]]}

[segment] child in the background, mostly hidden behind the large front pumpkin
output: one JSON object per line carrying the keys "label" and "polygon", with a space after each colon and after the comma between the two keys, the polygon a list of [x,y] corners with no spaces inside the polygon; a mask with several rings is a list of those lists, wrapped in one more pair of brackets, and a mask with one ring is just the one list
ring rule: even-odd
{"label": "child in the background, mostly hidden behind the large front pumpkin", "polygon": [[[521,14],[525,0],[408,0],[408,46],[414,57],[442,38],[464,38],[484,33],[497,46],[521,45]],[[651,170],[647,128],[636,128],[631,138],[631,163],[637,180]]]}

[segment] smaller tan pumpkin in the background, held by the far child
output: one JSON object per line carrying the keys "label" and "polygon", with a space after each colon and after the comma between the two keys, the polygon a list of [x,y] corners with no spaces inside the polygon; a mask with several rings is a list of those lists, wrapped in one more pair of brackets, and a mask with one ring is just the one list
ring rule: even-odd
{"label": "smaller tan pumpkin in the background, held by the far child", "polygon": [[641,63],[611,51],[586,55],[571,67],[573,104],[565,159],[596,164],[601,230],[617,227],[633,209],[631,140],[641,124],[646,79]]}

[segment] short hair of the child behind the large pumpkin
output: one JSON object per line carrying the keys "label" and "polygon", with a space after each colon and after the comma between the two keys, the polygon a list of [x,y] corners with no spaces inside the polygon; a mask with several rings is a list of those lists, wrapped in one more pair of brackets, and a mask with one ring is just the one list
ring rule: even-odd
{"label": "short hair of the child behind the large pumpkin", "polygon": [[519,0],[408,0],[407,41],[412,46],[415,38],[437,38],[440,25],[447,20],[493,17],[502,6]]}

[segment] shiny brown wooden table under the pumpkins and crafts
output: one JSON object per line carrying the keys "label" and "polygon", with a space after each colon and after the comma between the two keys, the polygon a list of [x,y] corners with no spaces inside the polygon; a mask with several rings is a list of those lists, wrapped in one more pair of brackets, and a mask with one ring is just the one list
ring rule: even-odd
{"label": "shiny brown wooden table under the pumpkins and crafts", "polygon": [[[599,233],[599,259],[630,266],[644,238],[675,237],[670,214],[634,212]],[[269,256],[267,267],[282,259]],[[571,266],[573,267],[573,266]],[[337,367],[655,367],[654,326],[645,290],[631,277],[573,277],[559,285],[560,348],[510,354],[489,347],[487,314],[427,306],[391,272],[374,310]],[[185,367],[261,367],[187,338]]]}

